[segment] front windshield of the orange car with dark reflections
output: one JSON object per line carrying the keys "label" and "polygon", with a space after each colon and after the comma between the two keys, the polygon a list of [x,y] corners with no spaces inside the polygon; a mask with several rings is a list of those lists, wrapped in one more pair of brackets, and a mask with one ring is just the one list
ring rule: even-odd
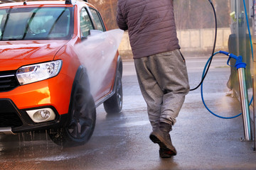
{"label": "front windshield of the orange car with dark reflections", "polygon": [[73,8],[0,9],[0,40],[66,40],[73,33]]}

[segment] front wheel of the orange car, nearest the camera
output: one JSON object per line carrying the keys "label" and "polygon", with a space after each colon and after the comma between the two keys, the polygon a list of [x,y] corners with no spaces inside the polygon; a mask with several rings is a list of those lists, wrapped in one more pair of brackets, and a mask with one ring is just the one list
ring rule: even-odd
{"label": "front wheel of the orange car, nearest the camera", "polygon": [[92,95],[81,80],[73,86],[73,96],[70,105],[70,123],[64,128],[50,130],[48,132],[51,140],[63,147],[75,147],[84,145],[95,128],[96,108]]}

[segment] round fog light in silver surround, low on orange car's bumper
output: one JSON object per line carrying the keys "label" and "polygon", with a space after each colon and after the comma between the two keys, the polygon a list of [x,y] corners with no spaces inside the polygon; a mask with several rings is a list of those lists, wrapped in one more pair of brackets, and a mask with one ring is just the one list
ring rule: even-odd
{"label": "round fog light in silver surround, low on orange car's bumper", "polygon": [[41,123],[55,119],[55,113],[51,108],[41,108],[26,112],[35,123]]}

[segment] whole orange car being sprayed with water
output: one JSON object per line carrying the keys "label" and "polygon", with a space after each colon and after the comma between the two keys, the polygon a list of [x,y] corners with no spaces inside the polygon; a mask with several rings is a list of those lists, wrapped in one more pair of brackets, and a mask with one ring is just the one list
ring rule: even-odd
{"label": "whole orange car being sprayed with water", "polygon": [[58,145],[82,145],[95,128],[97,106],[119,113],[118,52],[92,94],[90,70],[75,51],[92,33],[105,31],[100,13],[85,1],[0,4],[0,134],[47,129]]}

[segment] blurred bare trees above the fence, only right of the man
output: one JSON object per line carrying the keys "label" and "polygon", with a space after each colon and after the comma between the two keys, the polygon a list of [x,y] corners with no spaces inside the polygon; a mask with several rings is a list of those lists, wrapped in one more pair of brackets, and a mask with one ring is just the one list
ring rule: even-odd
{"label": "blurred bare trees above the fence, only right of the man", "polygon": [[[214,0],[213,5],[217,13],[218,28],[229,27],[230,2]],[[213,28],[213,9],[207,0],[176,0],[174,1],[174,15],[177,29]]]}

